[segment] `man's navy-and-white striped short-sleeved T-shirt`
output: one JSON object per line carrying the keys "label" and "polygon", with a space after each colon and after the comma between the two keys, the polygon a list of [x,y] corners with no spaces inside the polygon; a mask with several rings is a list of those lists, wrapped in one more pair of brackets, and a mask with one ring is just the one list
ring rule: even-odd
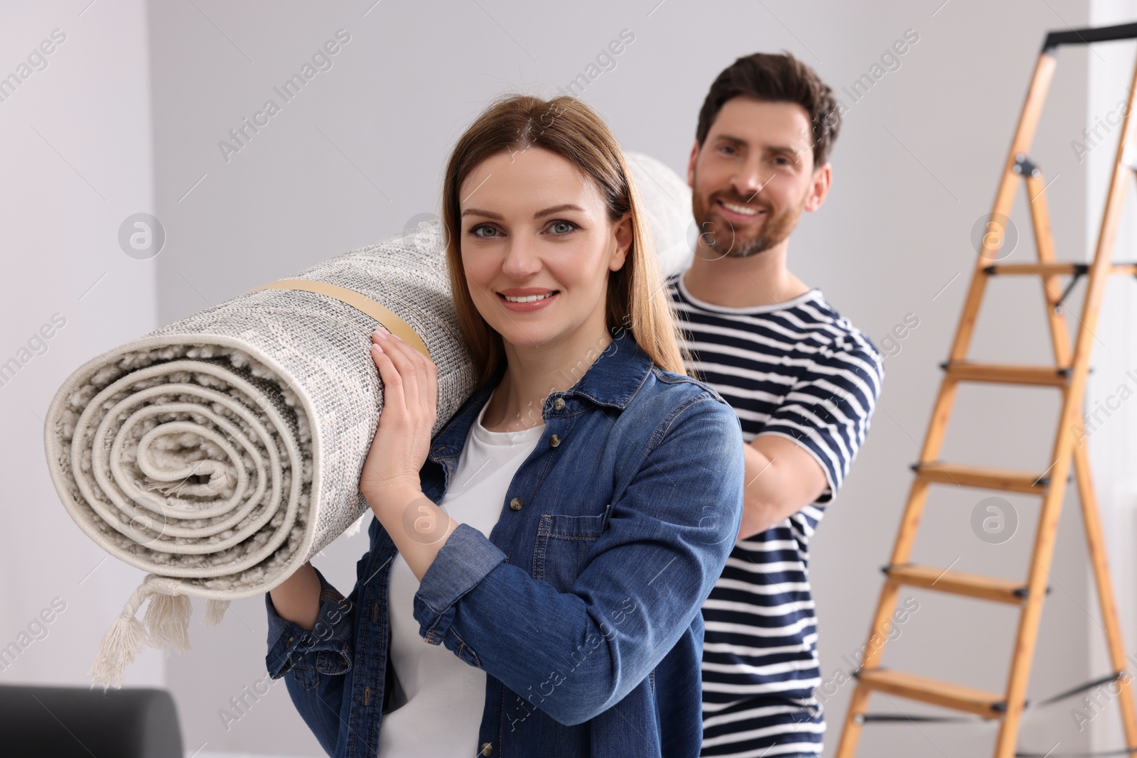
{"label": "man's navy-and-white striped short-sleeved T-shirt", "polygon": [[796,441],[828,484],[812,505],[739,540],[703,606],[700,755],[820,753],[825,722],[814,697],[821,668],[810,538],[869,431],[883,359],[818,289],[725,308],[692,298],[681,274],[667,288],[692,358],[688,370],[733,406],[742,439]]}

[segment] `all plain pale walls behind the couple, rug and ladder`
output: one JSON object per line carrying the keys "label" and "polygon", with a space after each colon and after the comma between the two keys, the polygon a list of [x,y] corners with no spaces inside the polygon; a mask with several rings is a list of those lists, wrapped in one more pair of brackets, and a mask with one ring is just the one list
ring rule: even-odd
{"label": "all plain pale walls behind the couple, rug and ladder", "polygon": [[[91,356],[387,236],[417,214],[437,213],[448,151],[490,97],[517,90],[553,94],[624,28],[634,41],[582,98],[608,119],[626,149],[656,156],[679,172],[706,88],[740,55],[791,50],[850,106],[832,157],[833,191],[795,233],[790,266],[878,347],[906,314],[920,324],[886,360],[868,443],[814,539],[811,575],[822,674],[830,678],[847,669],[843,657],[864,644],[880,586],[877,569],[887,561],[911,482],[906,465],[919,457],[940,377],[936,365],[946,357],[958,319],[974,260],[972,225],[990,208],[1043,34],[1087,24],[1089,7],[1076,0],[766,0],[709,7],[594,0],[566,8],[498,0],[448,3],[440,16],[433,6],[372,2],[193,0],[143,8],[102,0],[84,10],[81,0],[0,9],[2,49],[15,51],[0,67],[15,67],[25,49],[52,28],[68,33],[50,66],[0,102],[3,144],[15,145],[0,153],[0,207],[16,219],[6,216],[0,226],[5,270],[15,274],[6,280],[0,305],[5,356],[15,355],[52,313],[68,316],[51,350],[0,388],[0,414],[13,430],[8,439],[24,441],[8,445],[2,465],[11,468],[13,485],[5,502],[14,519],[32,526],[3,538],[0,568],[8,578],[0,594],[6,635],[0,639],[15,639],[51,597],[66,595],[69,603],[50,636],[0,677],[85,682],[98,636],[140,575],[107,560],[81,588],[68,590],[101,556],[58,505],[42,464],[40,423],[26,409],[42,411],[55,388]],[[332,68],[283,102],[274,86],[340,28],[350,41],[331,58]],[[920,40],[901,58],[899,69],[852,102],[841,88],[869,72],[908,28]],[[1094,60],[1086,50],[1062,51],[1032,151],[1053,180],[1047,193],[1059,255],[1067,259],[1085,257],[1090,227],[1096,228],[1087,200],[1092,169],[1070,148],[1098,107],[1094,98],[1101,95],[1086,86],[1097,70]],[[269,98],[280,113],[256,134],[249,132],[248,144],[226,159],[218,143],[232,141],[230,130],[251,119]],[[1097,150],[1087,163],[1111,151]],[[1020,243],[1012,260],[1032,255],[1024,208],[1020,199],[1014,214]],[[147,261],[128,258],[116,242],[118,225],[138,211],[153,213],[167,232],[165,249]],[[1037,283],[997,282],[988,293],[971,357],[1046,361]],[[1071,307],[1077,313],[1077,297]],[[1131,334],[1122,328],[1122,338]],[[966,388],[956,408],[943,459],[1045,467],[1057,411],[1053,394]],[[1128,428],[1122,420],[1111,424],[1110,433]],[[1101,463],[1115,469],[1122,461]],[[1111,538],[1115,550],[1127,549],[1132,488],[1109,468],[1098,481],[1103,490],[1119,493],[1111,501],[1121,503],[1114,523],[1127,531]],[[1009,498],[1019,530],[996,545],[980,541],[970,527],[972,509],[987,494],[935,490],[914,559],[1024,576],[1037,499]],[[27,514],[30,502],[43,507]],[[1070,497],[1032,699],[1104,670],[1099,661],[1090,664],[1099,630],[1076,507]],[[345,591],[365,540],[343,538],[316,560]],[[47,550],[61,556],[44,560]],[[913,594],[920,610],[887,651],[886,665],[1001,689],[1013,644],[1013,610]],[[1128,609],[1132,618],[1131,605]],[[127,682],[160,682],[165,664],[188,755],[321,755],[280,682],[257,701],[246,694],[246,688],[264,691],[263,601],[236,602],[231,610],[221,627],[193,624],[190,653],[165,661],[147,653]],[[825,702],[830,753],[850,690],[846,684]],[[231,698],[242,695],[247,706],[238,710]],[[873,709],[897,707],[923,713],[886,698],[877,698]],[[223,719],[222,709],[230,717]],[[1095,730],[1106,728],[1104,717],[1095,722]],[[989,751],[994,733],[993,725],[873,726],[860,755],[970,758]],[[1114,745],[1110,736],[1103,733],[1101,745]],[[1064,707],[1028,719],[1021,741],[1040,752],[1055,742],[1061,751],[1089,747]]]}

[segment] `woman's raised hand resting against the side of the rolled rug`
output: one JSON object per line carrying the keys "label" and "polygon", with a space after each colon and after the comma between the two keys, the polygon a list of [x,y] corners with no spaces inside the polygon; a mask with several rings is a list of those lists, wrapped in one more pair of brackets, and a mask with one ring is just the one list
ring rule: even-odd
{"label": "woman's raised hand resting against the side of the rolled rug", "polygon": [[371,357],[383,380],[383,410],[364,460],[359,489],[373,509],[401,507],[422,494],[418,469],[426,463],[438,417],[434,361],[382,326],[372,334]]}

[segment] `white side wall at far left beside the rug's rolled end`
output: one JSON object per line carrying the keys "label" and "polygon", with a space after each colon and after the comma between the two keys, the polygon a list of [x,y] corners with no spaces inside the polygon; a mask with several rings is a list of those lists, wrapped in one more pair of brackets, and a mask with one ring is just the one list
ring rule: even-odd
{"label": "white side wall at far left beside the rug's rolled end", "polygon": [[[43,453],[44,411],[67,375],[157,326],[156,260],[118,245],[119,224],[153,210],[146,6],[85,6],[0,7],[0,76],[26,76],[0,101],[0,361],[20,364],[0,386],[0,645],[26,644],[0,661],[0,683],[89,684],[102,632],[143,575],[103,560],[72,522]],[[33,55],[53,30],[63,41]],[[63,326],[27,349],[55,314]],[[56,598],[64,610],[35,626]],[[156,651],[126,676],[164,682]]]}

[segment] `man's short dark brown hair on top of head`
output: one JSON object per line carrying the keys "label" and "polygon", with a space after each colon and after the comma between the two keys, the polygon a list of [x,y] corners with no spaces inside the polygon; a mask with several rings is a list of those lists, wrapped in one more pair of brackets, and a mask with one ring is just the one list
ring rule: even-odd
{"label": "man's short dark brown hair on top of head", "polygon": [[820,166],[829,158],[841,126],[833,91],[815,70],[788,51],[744,56],[719,74],[699,110],[695,139],[700,149],[723,103],[739,95],[767,102],[796,102],[805,108],[813,124],[813,165]]}

